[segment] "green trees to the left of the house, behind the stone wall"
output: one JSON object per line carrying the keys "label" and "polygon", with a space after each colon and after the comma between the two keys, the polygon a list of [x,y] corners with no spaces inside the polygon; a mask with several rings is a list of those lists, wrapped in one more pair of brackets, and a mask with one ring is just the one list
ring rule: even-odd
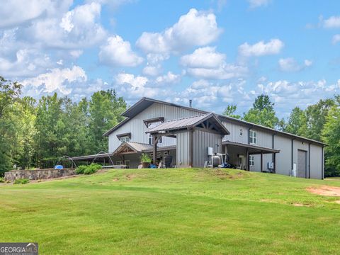
{"label": "green trees to the left of the house, behind the stone wall", "polygon": [[21,169],[52,167],[69,157],[108,150],[103,133],[117,125],[126,103],[114,90],[75,103],[57,94],[36,101],[21,96],[21,84],[0,77],[0,176]]}

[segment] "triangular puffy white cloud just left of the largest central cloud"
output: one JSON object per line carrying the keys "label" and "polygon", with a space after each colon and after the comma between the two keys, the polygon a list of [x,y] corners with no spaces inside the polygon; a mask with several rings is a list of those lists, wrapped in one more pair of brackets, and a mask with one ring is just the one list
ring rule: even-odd
{"label": "triangular puffy white cloud just left of the largest central cloud", "polygon": [[136,67],[143,62],[142,57],[131,50],[130,42],[119,35],[109,37],[106,45],[101,46],[99,60],[115,67]]}

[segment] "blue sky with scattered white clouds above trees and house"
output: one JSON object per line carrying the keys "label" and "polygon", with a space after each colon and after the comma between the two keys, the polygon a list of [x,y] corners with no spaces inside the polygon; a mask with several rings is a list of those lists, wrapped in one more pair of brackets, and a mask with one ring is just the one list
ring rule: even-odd
{"label": "blue sky with scattered white clouds above trees and house", "polygon": [[[23,94],[115,89],[217,113],[268,94],[280,117],[340,90],[340,2],[32,0],[0,10],[0,75]],[[18,16],[18,13],[21,15]]]}

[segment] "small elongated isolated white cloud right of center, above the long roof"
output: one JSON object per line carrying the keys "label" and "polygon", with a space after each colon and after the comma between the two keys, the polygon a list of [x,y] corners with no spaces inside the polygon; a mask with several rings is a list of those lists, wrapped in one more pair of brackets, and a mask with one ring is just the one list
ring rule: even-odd
{"label": "small elongated isolated white cloud right of center, above the long roof", "polygon": [[239,45],[239,54],[244,57],[259,57],[263,55],[275,55],[280,53],[284,43],[279,39],[271,39],[269,42],[257,42],[254,45],[249,45],[245,42]]}

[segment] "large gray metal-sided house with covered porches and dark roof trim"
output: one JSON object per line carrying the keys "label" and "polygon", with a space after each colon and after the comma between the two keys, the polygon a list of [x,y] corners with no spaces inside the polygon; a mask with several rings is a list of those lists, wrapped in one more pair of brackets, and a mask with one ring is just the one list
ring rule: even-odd
{"label": "large gray metal-sided house with covered porches and dark roof trim", "polygon": [[208,147],[227,153],[239,169],[266,171],[302,178],[324,178],[324,144],[225,115],[174,103],[142,98],[108,130],[108,154],[115,165],[137,168],[140,155],[153,159],[171,155],[176,167],[203,167]]}

